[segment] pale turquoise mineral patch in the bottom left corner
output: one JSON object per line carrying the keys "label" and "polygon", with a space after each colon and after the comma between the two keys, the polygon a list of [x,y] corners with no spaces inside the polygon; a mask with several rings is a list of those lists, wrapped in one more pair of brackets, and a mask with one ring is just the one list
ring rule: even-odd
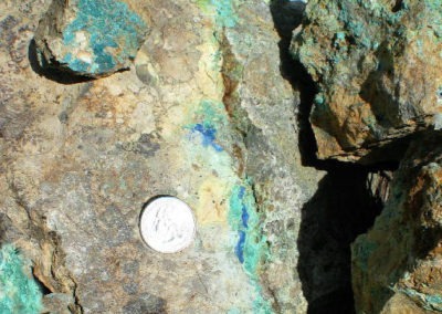
{"label": "pale turquoise mineral patch in the bottom left corner", "polygon": [[12,245],[0,250],[0,313],[36,314],[42,311],[42,292],[29,275],[31,268]]}

